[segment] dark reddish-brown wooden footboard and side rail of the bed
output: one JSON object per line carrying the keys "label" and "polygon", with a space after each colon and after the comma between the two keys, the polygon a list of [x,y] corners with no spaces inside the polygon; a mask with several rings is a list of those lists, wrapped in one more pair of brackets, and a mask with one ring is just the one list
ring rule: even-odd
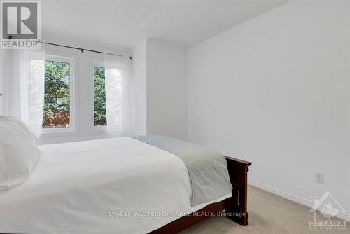
{"label": "dark reddish-brown wooden footboard and side rail of the bed", "polygon": [[[251,163],[225,156],[228,162],[228,173],[232,184],[232,197],[207,205],[203,209],[183,216],[149,234],[173,234],[179,233],[190,226],[193,226],[210,216],[215,216],[218,212],[225,210],[225,216],[241,225],[248,225],[247,207],[247,178]],[[198,215],[207,214],[207,215]]]}

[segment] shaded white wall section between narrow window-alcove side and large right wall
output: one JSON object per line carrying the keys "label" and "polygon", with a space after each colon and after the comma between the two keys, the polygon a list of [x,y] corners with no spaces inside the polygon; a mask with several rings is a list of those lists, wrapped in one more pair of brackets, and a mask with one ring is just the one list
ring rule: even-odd
{"label": "shaded white wall section between narrow window-alcove side and large right wall", "polygon": [[147,134],[187,139],[187,50],[147,39]]}

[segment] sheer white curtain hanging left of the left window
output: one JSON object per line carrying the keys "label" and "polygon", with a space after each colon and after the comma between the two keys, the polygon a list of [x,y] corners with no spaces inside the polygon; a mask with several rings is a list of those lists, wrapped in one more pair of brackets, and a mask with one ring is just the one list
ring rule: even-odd
{"label": "sheer white curtain hanging left of the left window", "polygon": [[3,50],[3,115],[15,116],[40,133],[43,120],[45,49]]}

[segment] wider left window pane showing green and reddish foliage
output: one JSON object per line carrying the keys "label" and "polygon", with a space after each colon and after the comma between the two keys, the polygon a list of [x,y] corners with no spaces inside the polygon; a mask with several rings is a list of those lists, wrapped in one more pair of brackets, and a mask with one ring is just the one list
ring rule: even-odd
{"label": "wider left window pane showing green and reddish foliage", "polygon": [[69,62],[45,61],[43,128],[69,128]]}

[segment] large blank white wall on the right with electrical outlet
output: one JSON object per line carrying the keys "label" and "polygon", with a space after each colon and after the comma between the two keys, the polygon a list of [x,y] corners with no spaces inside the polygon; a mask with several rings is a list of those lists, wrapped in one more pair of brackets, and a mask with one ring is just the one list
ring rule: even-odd
{"label": "large blank white wall on the right with electrical outlet", "polygon": [[347,219],[349,12],[292,1],[188,51],[188,140],[250,160],[252,184],[305,205],[330,191]]}

